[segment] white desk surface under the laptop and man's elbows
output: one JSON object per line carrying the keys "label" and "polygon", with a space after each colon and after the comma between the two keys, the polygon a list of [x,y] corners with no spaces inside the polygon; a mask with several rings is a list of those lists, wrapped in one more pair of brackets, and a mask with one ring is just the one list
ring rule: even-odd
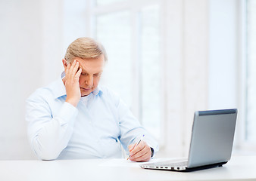
{"label": "white desk surface under the laptop and man's elbows", "polygon": [[223,167],[189,173],[145,170],[139,164],[126,159],[0,161],[0,180],[256,180],[256,156],[232,157]]}

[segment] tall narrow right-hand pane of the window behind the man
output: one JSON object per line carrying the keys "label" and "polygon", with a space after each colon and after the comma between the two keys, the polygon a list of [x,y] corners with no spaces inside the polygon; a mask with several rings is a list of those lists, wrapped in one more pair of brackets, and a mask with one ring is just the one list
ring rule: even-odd
{"label": "tall narrow right-hand pane of the window behind the man", "polygon": [[158,138],[160,136],[161,120],[158,5],[143,8],[141,18],[142,124]]}

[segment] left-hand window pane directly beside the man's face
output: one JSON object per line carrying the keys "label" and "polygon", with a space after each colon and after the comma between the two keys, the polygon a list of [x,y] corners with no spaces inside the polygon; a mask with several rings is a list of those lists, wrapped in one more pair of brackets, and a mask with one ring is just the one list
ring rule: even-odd
{"label": "left-hand window pane directly beside the man's face", "polygon": [[104,44],[108,63],[104,84],[117,91],[131,105],[131,28],[130,12],[122,11],[96,17],[96,38]]}

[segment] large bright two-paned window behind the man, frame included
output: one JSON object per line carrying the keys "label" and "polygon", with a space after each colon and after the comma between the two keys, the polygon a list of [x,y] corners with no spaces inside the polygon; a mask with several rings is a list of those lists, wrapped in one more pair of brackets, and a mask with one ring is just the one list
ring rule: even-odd
{"label": "large bright two-paned window behind the man, frame included", "polygon": [[102,82],[156,138],[161,137],[162,107],[158,4],[97,0],[92,9],[93,35],[105,45],[109,60]]}

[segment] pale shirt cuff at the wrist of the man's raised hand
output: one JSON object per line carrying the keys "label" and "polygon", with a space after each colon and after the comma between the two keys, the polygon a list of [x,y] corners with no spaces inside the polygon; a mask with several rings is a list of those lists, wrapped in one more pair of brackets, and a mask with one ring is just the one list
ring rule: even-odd
{"label": "pale shirt cuff at the wrist of the man's raised hand", "polygon": [[61,106],[60,112],[58,113],[58,117],[61,118],[61,125],[67,123],[73,124],[77,114],[78,110],[76,109],[76,107],[74,107],[70,103],[64,102],[63,106]]}

